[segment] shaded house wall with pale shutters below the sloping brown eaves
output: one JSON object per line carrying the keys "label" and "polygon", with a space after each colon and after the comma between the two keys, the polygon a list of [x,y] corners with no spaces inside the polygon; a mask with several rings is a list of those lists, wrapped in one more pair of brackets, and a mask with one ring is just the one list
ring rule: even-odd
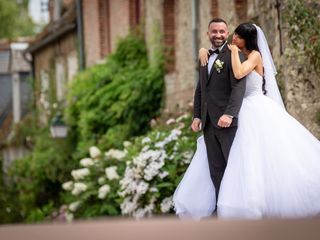
{"label": "shaded house wall with pale shutters below the sloping brown eaves", "polygon": [[[70,81],[78,70],[76,46],[76,34],[71,32],[60,41],[34,53],[36,80],[34,94],[37,109],[43,111],[40,115],[42,123],[46,123],[47,117],[51,114],[49,102],[54,103],[57,100],[57,87],[59,87],[60,97],[63,98],[65,95],[61,91],[66,92],[67,81]],[[58,64],[60,70],[57,69]]]}

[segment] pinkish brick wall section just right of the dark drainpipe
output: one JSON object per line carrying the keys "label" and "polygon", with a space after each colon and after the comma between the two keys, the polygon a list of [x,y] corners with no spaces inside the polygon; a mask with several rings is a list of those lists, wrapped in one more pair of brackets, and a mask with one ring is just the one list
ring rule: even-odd
{"label": "pinkish brick wall section just right of the dark drainpipe", "polygon": [[[131,4],[131,5],[130,5]],[[131,0],[83,0],[86,66],[92,66],[116,47],[130,29]],[[137,16],[132,16],[135,19]]]}

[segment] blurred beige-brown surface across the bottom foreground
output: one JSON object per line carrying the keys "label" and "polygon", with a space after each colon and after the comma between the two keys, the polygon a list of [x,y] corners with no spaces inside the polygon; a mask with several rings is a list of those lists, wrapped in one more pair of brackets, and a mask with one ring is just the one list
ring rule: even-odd
{"label": "blurred beige-brown surface across the bottom foreground", "polygon": [[0,226],[1,240],[319,240],[320,218],[298,220],[223,221],[206,219],[201,222],[177,218],[132,220],[123,218],[53,223],[38,225]]}

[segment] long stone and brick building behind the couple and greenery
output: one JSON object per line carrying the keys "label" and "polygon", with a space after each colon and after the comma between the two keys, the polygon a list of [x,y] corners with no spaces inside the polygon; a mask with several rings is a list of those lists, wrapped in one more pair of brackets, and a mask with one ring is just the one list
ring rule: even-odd
{"label": "long stone and brick building behind the couple and greenery", "polygon": [[[314,121],[315,112],[320,109],[319,77],[309,72],[301,74],[295,69],[295,59],[289,61],[283,54],[289,46],[285,24],[281,22],[287,0],[50,0],[49,3],[51,22],[29,51],[34,56],[35,77],[37,81],[41,79],[40,90],[47,91],[52,84],[46,82],[55,79],[52,87],[56,88],[57,100],[63,99],[66,83],[79,69],[104,60],[120,37],[139,26],[151,62],[159,44],[164,45],[166,109],[184,111],[193,101],[198,49],[210,46],[206,36],[208,22],[221,17],[232,33],[240,22],[252,21],[266,34],[281,73],[279,81],[287,109],[320,136],[320,127]],[[40,92],[39,99],[45,102]]]}

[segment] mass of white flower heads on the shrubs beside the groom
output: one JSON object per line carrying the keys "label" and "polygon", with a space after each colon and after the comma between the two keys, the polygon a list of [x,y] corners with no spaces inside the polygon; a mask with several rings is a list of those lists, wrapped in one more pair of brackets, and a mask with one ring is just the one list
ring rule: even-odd
{"label": "mass of white flower heads on the shrubs beside the groom", "polygon": [[[90,147],[90,157],[80,160],[82,168],[71,172],[73,181],[62,185],[64,190],[76,196],[75,201],[68,205],[68,216],[66,214],[66,217],[72,219],[73,213],[79,206],[87,204],[86,197],[83,198],[81,193],[90,188],[90,192],[86,192],[85,195],[92,192],[97,194],[98,199],[113,201],[113,194],[108,194],[114,191],[118,184],[117,193],[123,198],[120,204],[123,215],[142,218],[159,211],[170,212],[173,207],[172,196],[167,196],[173,183],[166,181],[166,178],[171,179],[172,176],[169,175],[172,173],[172,168],[183,167],[190,162],[193,156],[191,150],[181,152],[189,144],[189,139],[182,136],[182,130],[185,128],[182,120],[187,117],[188,115],[182,115],[177,119],[169,119],[167,125],[176,126],[170,132],[153,131],[142,138],[138,143],[138,146],[142,145],[140,152],[134,156],[130,155],[131,159],[127,154],[135,153],[136,148],[131,149],[132,143],[128,141],[123,142],[123,151],[110,149],[102,153],[97,147]],[[119,169],[122,169],[122,164],[125,164],[123,159],[126,159],[127,162],[124,176],[121,176]],[[175,159],[181,162],[177,164],[174,162]]]}

